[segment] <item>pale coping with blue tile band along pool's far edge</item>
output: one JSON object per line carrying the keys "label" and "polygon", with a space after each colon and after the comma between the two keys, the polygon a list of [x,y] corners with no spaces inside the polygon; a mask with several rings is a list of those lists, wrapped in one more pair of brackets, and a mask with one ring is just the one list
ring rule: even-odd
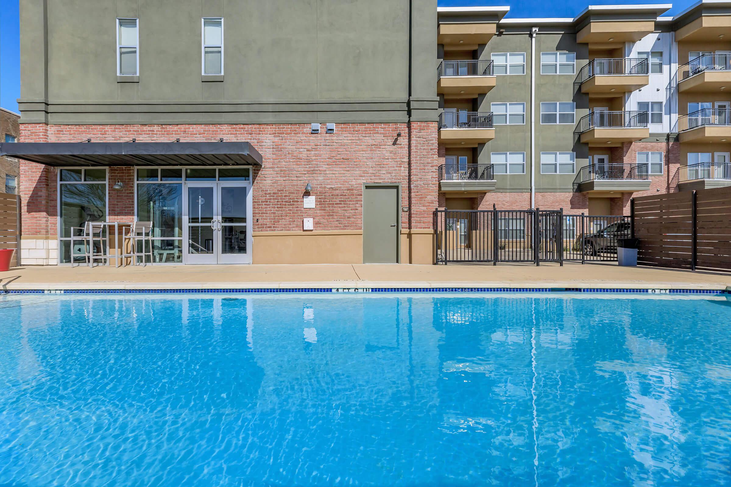
{"label": "pale coping with blue tile band along pool's far edge", "polygon": [[498,283],[35,283],[4,285],[5,294],[274,294],[274,293],[628,293],[731,294],[731,286],[686,287],[652,283],[602,285],[499,285]]}

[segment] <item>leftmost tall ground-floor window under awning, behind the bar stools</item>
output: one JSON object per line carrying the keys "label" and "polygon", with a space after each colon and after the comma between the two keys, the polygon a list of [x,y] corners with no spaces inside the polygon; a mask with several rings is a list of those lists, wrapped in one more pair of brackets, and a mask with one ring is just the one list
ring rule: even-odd
{"label": "leftmost tall ground-floor window under awning, behind the bar stools", "polygon": [[[73,247],[71,245],[71,228],[83,227],[87,221],[107,221],[107,170],[61,169],[58,172],[58,211],[59,261],[61,264],[85,261],[83,242],[74,241]],[[79,234],[77,230],[73,236]],[[103,235],[106,237],[106,229]]]}

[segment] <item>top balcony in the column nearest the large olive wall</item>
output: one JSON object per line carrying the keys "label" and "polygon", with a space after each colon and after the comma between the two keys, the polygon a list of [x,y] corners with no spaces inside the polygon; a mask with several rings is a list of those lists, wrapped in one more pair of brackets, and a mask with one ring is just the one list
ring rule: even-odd
{"label": "top balcony in the column nearest the large olive wall", "polygon": [[436,69],[436,92],[444,98],[477,98],[495,88],[493,61],[442,61]]}

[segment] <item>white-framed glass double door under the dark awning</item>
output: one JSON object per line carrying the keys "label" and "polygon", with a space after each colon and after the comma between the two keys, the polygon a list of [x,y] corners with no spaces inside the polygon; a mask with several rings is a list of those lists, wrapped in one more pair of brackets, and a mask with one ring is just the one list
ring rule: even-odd
{"label": "white-framed glass double door under the dark awning", "polygon": [[184,264],[251,264],[251,185],[186,183]]}

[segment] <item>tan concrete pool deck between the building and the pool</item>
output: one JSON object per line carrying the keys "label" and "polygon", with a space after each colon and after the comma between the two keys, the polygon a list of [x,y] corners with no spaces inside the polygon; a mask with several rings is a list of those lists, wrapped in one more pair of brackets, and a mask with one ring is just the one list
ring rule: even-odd
{"label": "tan concrete pool deck between the building and the pool", "polygon": [[638,288],[714,289],[731,274],[616,264],[300,264],[250,266],[25,266],[0,272],[3,290],[191,288]]}

